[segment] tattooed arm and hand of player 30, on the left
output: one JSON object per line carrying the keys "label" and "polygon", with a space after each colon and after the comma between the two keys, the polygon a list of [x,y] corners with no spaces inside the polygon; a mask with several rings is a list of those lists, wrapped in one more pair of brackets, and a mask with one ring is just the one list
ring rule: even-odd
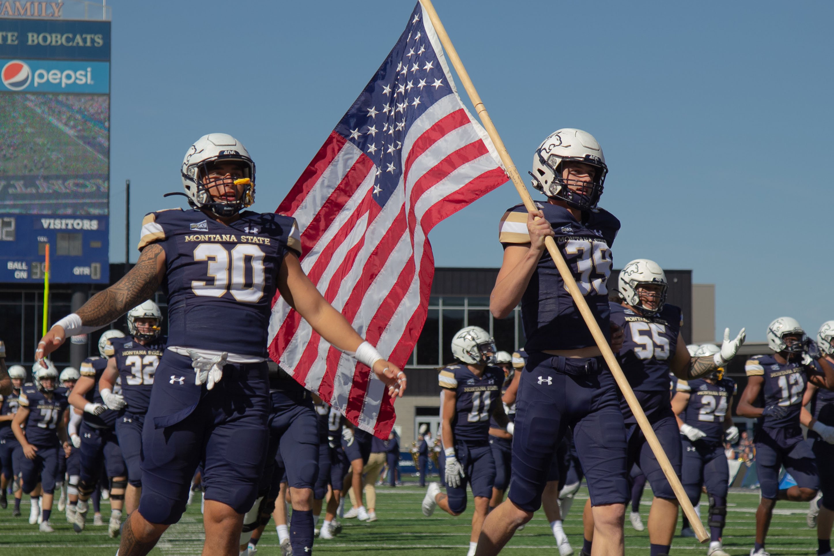
{"label": "tattooed arm and hand of player 30, on the left", "polygon": [[[152,243],[144,248],[136,266],[102,292],[96,293],[76,313],[84,327],[101,328],[112,323],[146,299],[153,296],[165,277],[165,251]],[[55,324],[38,343],[35,358],[39,361],[58,349],[66,339],[66,331]]]}

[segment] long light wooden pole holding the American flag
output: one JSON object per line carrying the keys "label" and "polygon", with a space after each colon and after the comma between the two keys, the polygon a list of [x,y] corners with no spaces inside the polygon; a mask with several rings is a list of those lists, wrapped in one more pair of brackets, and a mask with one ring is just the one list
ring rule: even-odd
{"label": "long light wooden pole holding the American flag", "polygon": [[[470,100],[475,105],[475,112],[478,113],[481,123],[484,124],[486,133],[489,133],[492,142],[495,143],[495,148],[498,150],[501,162],[504,163],[506,172],[510,176],[513,185],[515,185],[515,189],[519,192],[527,212],[533,213],[537,211],[538,209],[535,208],[535,204],[533,204],[533,198],[530,197],[530,192],[527,190],[525,183],[521,180],[518,170],[515,169],[515,164],[513,163],[512,158],[510,158],[510,153],[507,152],[504,142],[501,141],[498,130],[495,129],[495,125],[492,123],[492,119],[490,119],[490,114],[486,112],[486,107],[484,106],[483,101],[481,101],[480,95],[475,90],[475,85],[472,84],[469,73],[466,73],[466,68],[464,68],[464,64],[460,61],[460,57],[458,56],[455,47],[452,45],[449,35],[443,27],[443,23],[440,22],[440,17],[438,17],[437,12],[435,12],[435,7],[432,5],[431,0],[420,0],[420,3],[423,5],[426,13],[429,14],[431,24],[435,27],[435,32],[437,33],[438,38],[440,38],[440,43],[443,44],[446,55],[449,57],[452,66],[455,67],[455,72],[457,72],[458,77],[460,78],[460,83],[463,83],[466,93],[469,94]],[[580,313],[582,313],[582,318],[585,319],[585,324],[588,326],[591,335],[594,337],[596,345],[600,348],[602,356],[605,358],[605,363],[608,363],[608,368],[610,368],[611,374],[614,375],[617,384],[620,386],[620,391],[623,393],[629,408],[631,408],[631,413],[634,413],[634,416],[637,419],[637,424],[640,425],[641,431],[646,436],[646,440],[651,447],[651,451],[655,453],[657,462],[661,464],[663,473],[666,475],[666,479],[675,491],[678,502],[681,503],[681,508],[683,508],[683,513],[686,515],[686,518],[689,519],[692,528],[695,531],[696,537],[701,541],[701,543],[706,542],[709,537],[706,534],[706,529],[704,528],[703,523],[701,523],[701,518],[698,518],[697,513],[695,513],[695,508],[692,508],[689,497],[686,496],[686,491],[684,491],[683,486],[681,485],[681,480],[677,477],[675,469],[672,468],[669,458],[666,457],[666,452],[663,451],[663,447],[657,439],[655,431],[651,428],[651,424],[646,418],[646,413],[643,413],[643,408],[641,408],[640,402],[637,401],[634,392],[631,390],[628,379],[625,378],[625,374],[620,368],[620,363],[618,363],[614,357],[614,353],[611,351],[608,341],[605,339],[605,335],[602,333],[602,330],[600,330],[600,326],[596,323],[594,315],[590,313],[590,308],[588,307],[588,303],[585,301],[585,296],[582,295],[579,287],[576,285],[576,281],[573,278],[573,274],[570,272],[570,268],[568,268],[567,263],[565,263],[565,259],[562,258],[559,248],[556,247],[556,243],[553,238],[550,236],[545,238],[545,246],[547,247],[548,253],[550,253],[550,257],[553,258],[556,268],[559,270],[562,280],[565,282],[565,286],[570,292],[570,297],[573,298],[574,303],[576,303],[576,307],[579,308]]]}

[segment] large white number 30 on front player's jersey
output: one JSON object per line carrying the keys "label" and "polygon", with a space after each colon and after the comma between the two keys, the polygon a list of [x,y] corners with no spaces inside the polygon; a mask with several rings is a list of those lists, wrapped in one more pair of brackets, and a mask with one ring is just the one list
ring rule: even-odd
{"label": "large white number 30 on front player's jersey", "polygon": [[229,251],[219,243],[200,243],[194,260],[208,261],[206,274],[214,278],[214,283],[192,280],[194,295],[222,298],[229,292],[241,303],[258,303],[264,297],[264,252],[257,245],[242,243]]}

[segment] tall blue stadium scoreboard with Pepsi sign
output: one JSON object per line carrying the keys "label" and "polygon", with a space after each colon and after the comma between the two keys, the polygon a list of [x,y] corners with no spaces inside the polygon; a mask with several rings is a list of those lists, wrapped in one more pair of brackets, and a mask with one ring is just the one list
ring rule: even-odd
{"label": "tall blue stadium scoreboard with Pepsi sign", "polygon": [[0,18],[0,283],[109,282],[110,22]]}

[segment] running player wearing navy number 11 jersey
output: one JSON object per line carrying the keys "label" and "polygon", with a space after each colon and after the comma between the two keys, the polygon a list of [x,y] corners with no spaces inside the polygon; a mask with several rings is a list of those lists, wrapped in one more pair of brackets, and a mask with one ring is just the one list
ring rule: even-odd
{"label": "running player wearing navy number 11 jersey", "polygon": [[495,461],[490,448],[490,417],[512,434],[501,403],[504,370],[495,367],[495,341],[477,326],[461,328],[452,338],[452,355],[458,361],[440,371],[444,388],[443,448],[446,457],[446,493],[431,483],[423,499],[423,513],[430,516],[440,506],[450,515],[466,509],[466,483],[475,497],[469,556],[475,554],[481,525],[489,510],[495,483]]}

